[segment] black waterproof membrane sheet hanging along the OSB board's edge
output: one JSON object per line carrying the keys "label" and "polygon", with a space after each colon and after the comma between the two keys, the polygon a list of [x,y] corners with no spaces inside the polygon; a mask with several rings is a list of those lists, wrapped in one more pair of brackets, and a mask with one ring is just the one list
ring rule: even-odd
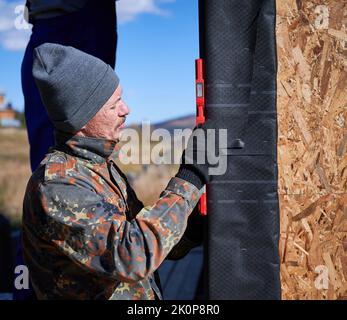
{"label": "black waterproof membrane sheet hanging along the OSB board's edge", "polygon": [[206,118],[228,129],[207,186],[209,299],[280,299],[275,0],[200,0]]}

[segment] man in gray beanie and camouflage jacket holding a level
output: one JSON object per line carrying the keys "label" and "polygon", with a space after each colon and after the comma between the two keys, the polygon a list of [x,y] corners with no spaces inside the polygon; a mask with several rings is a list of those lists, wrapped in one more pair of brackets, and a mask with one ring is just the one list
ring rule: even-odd
{"label": "man in gray beanie and camouflage jacket holding a level", "polygon": [[183,234],[208,166],[182,164],[144,208],[115,163],[129,109],[112,68],[46,43],[34,51],[33,75],[56,130],[23,206],[24,258],[38,298],[161,299],[156,270],[194,246]]}

